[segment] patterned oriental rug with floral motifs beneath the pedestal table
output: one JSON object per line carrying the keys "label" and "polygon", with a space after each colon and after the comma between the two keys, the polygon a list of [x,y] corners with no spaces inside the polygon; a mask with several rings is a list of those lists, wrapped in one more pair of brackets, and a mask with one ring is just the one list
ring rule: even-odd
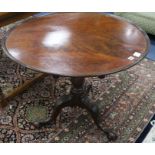
{"label": "patterned oriental rug with floral motifs beneath the pedestal table", "polygon": [[[0,87],[5,95],[37,74],[7,58],[0,47]],[[154,115],[154,77],[155,62],[144,59],[140,64],[105,79],[86,79],[86,84],[93,86],[90,98],[101,101],[100,123],[114,128],[118,134],[116,142],[135,142]],[[49,75],[9,102],[0,113],[0,142],[109,142],[90,115],[80,108],[64,108],[56,125],[51,122],[40,129],[33,125],[36,120],[47,120],[56,98],[70,92],[69,78],[58,79],[56,98],[53,84],[53,77]]]}

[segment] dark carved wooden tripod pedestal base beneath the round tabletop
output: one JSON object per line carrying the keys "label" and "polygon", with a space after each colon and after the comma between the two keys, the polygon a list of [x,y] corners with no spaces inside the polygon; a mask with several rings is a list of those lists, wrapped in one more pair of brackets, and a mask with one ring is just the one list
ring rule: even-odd
{"label": "dark carved wooden tripod pedestal base beneath the round tabletop", "polygon": [[98,109],[97,103],[92,103],[90,99],[88,99],[87,94],[91,89],[91,87],[85,88],[84,81],[85,81],[84,78],[72,78],[71,82],[73,84],[73,87],[71,89],[71,94],[60,97],[57,100],[52,118],[44,123],[36,123],[37,127],[41,127],[42,125],[49,123],[49,121],[53,121],[54,123],[56,123],[57,116],[59,115],[59,113],[64,107],[78,106],[80,108],[86,109],[90,113],[92,119],[94,120],[94,123],[101,131],[103,131],[107,135],[107,138],[110,141],[116,140],[117,135],[114,132],[112,132],[111,129],[102,128],[100,126],[99,109]]}

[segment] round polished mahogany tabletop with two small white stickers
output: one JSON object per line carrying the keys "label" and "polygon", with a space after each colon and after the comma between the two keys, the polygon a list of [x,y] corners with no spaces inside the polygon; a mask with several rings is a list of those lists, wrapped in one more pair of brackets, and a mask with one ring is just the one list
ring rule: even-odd
{"label": "round polished mahogany tabletop with two small white stickers", "polygon": [[3,48],[28,68],[86,77],[135,65],[147,54],[149,39],[139,27],[114,15],[54,13],[9,30]]}

